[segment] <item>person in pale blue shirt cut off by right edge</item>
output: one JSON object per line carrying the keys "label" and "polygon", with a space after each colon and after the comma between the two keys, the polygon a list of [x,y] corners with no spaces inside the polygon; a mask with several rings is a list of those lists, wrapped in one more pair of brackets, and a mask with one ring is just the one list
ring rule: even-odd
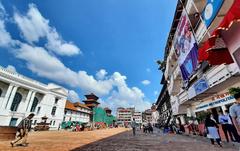
{"label": "person in pale blue shirt cut off by right edge", "polygon": [[236,103],[229,108],[229,111],[233,124],[237,128],[238,134],[240,134],[240,92],[234,94],[234,98],[236,99]]}

